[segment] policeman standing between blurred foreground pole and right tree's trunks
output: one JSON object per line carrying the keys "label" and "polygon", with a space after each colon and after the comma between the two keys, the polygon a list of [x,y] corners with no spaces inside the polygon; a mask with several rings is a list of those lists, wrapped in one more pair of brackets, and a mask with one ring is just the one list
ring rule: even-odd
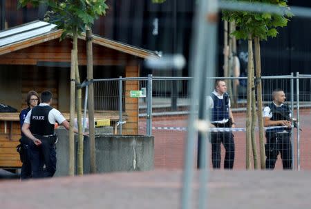
{"label": "policeman standing between blurred foreground pole and right tree's trunks", "polygon": [[[234,117],[227,94],[224,80],[216,80],[215,90],[209,97],[208,105],[211,108],[211,127],[234,128]],[[232,132],[211,132],[211,162],[213,168],[220,168],[220,145],[225,147],[224,168],[232,169],[234,166],[234,136]]]}

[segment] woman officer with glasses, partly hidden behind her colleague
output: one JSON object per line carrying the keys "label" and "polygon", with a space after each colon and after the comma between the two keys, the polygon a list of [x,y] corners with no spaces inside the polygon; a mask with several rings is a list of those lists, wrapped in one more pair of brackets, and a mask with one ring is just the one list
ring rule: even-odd
{"label": "woman officer with glasses, partly hidden behind her colleague", "polygon": [[[30,91],[27,93],[26,102],[28,105],[28,108],[21,110],[21,113],[19,114],[19,122],[21,123],[21,127],[23,126],[23,121],[26,119],[27,113],[37,106],[39,102],[39,94],[35,91]],[[30,163],[30,156],[29,156],[29,139],[23,134],[21,131],[21,146],[22,146],[22,162],[23,165],[21,166],[21,179],[30,179],[32,177],[31,175],[31,163]]]}

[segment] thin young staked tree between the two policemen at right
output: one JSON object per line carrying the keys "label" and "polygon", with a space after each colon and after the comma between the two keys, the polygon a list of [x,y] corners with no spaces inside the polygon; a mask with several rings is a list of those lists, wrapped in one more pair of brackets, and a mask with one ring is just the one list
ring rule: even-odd
{"label": "thin young staked tree between the two policemen at right", "polygon": [[[247,2],[245,0],[236,0],[239,2]],[[236,39],[248,39],[248,47],[251,50],[249,54],[249,60],[252,61],[253,57],[253,40],[255,41],[255,58],[256,58],[256,90],[257,90],[257,111],[258,111],[258,128],[259,128],[259,145],[261,154],[261,169],[265,168],[265,146],[263,139],[263,99],[262,99],[262,86],[261,86],[261,59],[260,59],[260,41],[267,40],[268,37],[276,37],[278,34],[277,28],[287,26],[288,19],[292,17],[290,8],[288,7],[287,0],[248,0],[249,3],[253,4],[254,7],[258,7],[258,3],[270,4],[279,7],[279,12],[277,14],[272,14],[269,12],[247,12],[247,11],[223,11],[223,20],[236,23],[236,31],[232,34]],[[253,62],[253,61],[252,61]],[[250,67],[254,66],[254,63],[247,66],[247,74],[252,74]],[[254,79],[253,77],[247,76],[247,79]],[[250,102],[252,102],[252,81],[247,82],[247,117],[250,117],[249,112],[255,111],[251,108]],[[253,102],[254,99],[253,99]],[[253,106],[254,107],[254,106]],[[246,137],[251,135],[251,122],[247,118]],[[246,147],[249,148],[249,140],[246,140]],[[249,159],[249,152],[246,153],[246,159]],[[249,166],[249,165],[247,165]],[[247,167],[249,168],[249,167]]]}

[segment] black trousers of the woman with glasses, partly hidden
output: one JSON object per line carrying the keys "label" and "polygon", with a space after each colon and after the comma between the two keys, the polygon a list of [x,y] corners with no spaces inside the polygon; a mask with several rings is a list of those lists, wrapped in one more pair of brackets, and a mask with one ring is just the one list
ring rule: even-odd
{"label": "black trousers of the woman with glasses, partly hidden", "polygon": [[21,137],[21,146],[23,146],[23,164],[21,166],[21,179],[30,179],[32,177],[31,163],[30,163],[30,139]]}

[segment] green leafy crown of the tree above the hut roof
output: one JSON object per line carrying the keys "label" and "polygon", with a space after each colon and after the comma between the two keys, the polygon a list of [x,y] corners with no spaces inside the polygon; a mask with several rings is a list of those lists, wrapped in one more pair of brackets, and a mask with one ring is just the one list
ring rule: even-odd
{"label": "green leafy crown of the tree above the hut roof", "polygon": [[48,6],[44,21],[57,25],[57,28],[64,30],[62,39],[68,34],[85,32],[85,27],[91,28],[95,19],[106,14],[108,6],[106,0],[19,0],[19,7],[28,4]]}

